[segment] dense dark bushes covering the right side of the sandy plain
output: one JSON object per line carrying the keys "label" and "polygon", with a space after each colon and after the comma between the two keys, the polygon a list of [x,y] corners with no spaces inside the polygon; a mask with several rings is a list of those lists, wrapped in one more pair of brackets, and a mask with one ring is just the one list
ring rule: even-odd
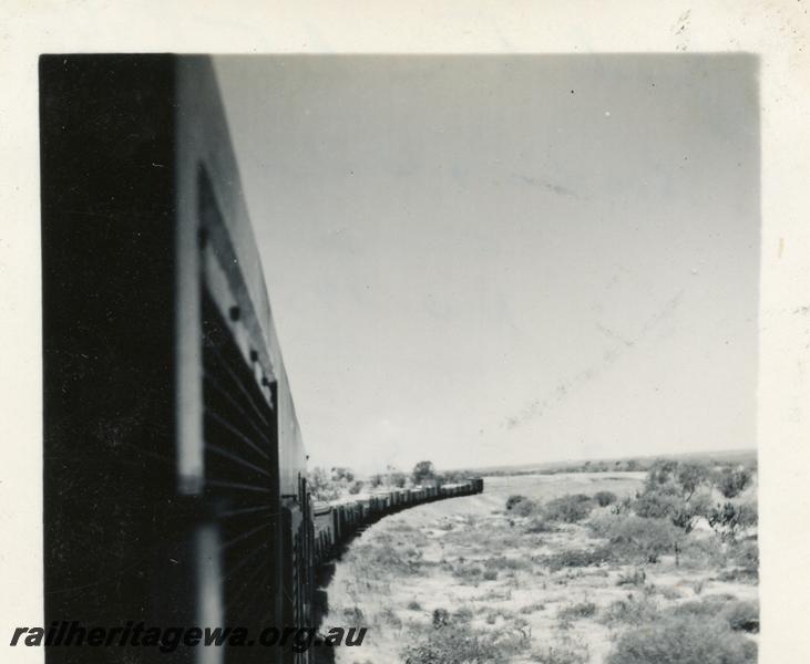
{"label": "dense dark bushes covering the right side of the sandy plain", "polygon": [[[746,664],[757,656],[756,643],[746,636],[759,629],[757,602],[724,595],[678,601],[681,591],[649,583],[647,570],[668,557],[676,568],[719,570],[719,580],[756,581],[757,502],[749,491],[755,479],[744,466],[664,459],[650,464],[642,488],[624,498],[601,491],[541,502],[513,495],[505,508],[526,532],[580,523],[589,530],[592,546],[542,557],[551,573],[624,566],[615,583],[633,590],[627,599],[602,610],[581,602],[557,612],[561,624],[594,616],[617,631],[606,664]],[[694,596],[704,587],[705,578],[696,578]],[[662,608],[656,598],[675,603]],[[553,656],[547,650],[540,661]]]}

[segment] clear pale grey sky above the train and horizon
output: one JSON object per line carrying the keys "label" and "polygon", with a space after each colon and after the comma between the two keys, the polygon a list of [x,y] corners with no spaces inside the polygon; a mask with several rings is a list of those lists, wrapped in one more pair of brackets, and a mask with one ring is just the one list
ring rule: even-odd
{"label": "clear pale grey sky above the train and horizon", "polygon": [[310,466],[756,446],[753,56],[215,66]]}

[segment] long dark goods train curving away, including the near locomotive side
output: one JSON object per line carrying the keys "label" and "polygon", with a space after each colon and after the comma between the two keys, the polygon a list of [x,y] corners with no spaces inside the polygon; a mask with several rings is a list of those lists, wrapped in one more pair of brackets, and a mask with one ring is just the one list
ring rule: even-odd
{"label": "long dark goods train curving away, including the near locomotive side", "polygon": [[[39,71],[45,624],[310,625],[315,566],[347,538],[482,480],[314,505],[212,62]],[[156,656],[308,653],[45,649],[49,664]]]}

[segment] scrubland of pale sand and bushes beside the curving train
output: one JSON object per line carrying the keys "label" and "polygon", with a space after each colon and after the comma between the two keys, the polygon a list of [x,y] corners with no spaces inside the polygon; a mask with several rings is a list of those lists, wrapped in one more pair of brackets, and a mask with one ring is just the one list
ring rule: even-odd
{"label": "scrubland of pale sand and bushes beside the curving train", "polygon": [[347,553],[335,615],[389,639],[373,661],[755,662],[756,468],[611,475],[503,481],[496,506],[385,519]]}

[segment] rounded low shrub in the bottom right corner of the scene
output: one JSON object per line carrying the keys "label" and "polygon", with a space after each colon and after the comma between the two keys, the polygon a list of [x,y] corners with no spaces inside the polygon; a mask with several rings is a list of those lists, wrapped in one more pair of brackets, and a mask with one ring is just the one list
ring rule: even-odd
{"label": "rounded low shrub in the bottom right corner of the scene", "polygon": [[625,632],[605,664],[747,664],[757,645],[721,620],[671,615]]}

